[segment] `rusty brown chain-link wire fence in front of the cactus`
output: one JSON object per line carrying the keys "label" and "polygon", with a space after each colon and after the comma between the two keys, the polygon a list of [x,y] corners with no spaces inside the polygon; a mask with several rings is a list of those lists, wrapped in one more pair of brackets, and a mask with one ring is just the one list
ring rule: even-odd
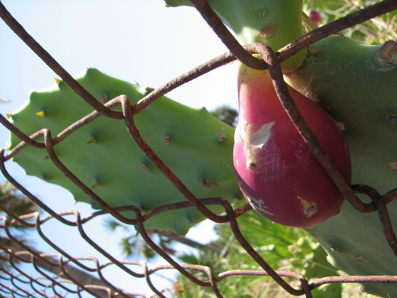
{"label": "rusty brown chain-link wire fence in front of the cactus", "polygon": [[[89,293],[95,297],[149,297],[146,294],[128,292],[119,289],[116,284],[113,284],[106,280],[102,272],[106,270],[108,266],[117,266],[121,270],[125,271],[132,277],[141,278],[146,281],[153,292],[159,297],[165,297],[163,292],[157,289],[151,282],[151,275],[165,269],[177,269],[182,275],[185,275],[189,280],[200,286],[212,287],[217,297],[223,297],[218,290],[217,283],[222,279],[226,279],[233,275],[269,275],[276,281],[282,288],[284,288],[290,294],[299,296],[305,295],[311,297],[311,290],[327,283],[397,283],[397,276],[331,276],[318,279],[316,281],[308,283],[307,279],[297,273],[289,271],[278,271],[272,269],[268,263],[252,248],[239,231],[239,227],[236,218],[244,212],[251,209],[249,204],[243,205],[235,210],[225,199],[214,197],[206,199],[197,199],[194,194],[187,189],[183,183],[179,180],[175,174],[162,162],[162,160],[154,153],[150,147],[146,144],[145,140],[139,134],[137,127],[134,123],[134,115],[143,110],[150,103],[158,99],[160,96],[168,93],[172,89],[195,79],[196,77],[210,72],[215,68],[218,68],[229,62],[240,60],[247,66],[254,69],[269,69],[273,79],[274,86],[278,93],[279,99],[286,112],[291,118],[291,121],[295,124],[306,143],[310,146],[317,159],[320,161],[324,169],[328,172],[330,178],[333,180],[339,190],[345,195],[347,200],[357,209],[359,212],[369,213],[377,211],[379,213],[382,228],[384,230],[385,238],[389,243],[391,250],[397,256],[397,239],[393,232],[391,222],[387,213],[386,205],[397,197],[397,188],[390,190],[389,192],[381,195],[376,190],[366,185],[348,185],[345,180],[341,177],[339,171],[331,163],[330,159],[324,154],[324,150],[316,140],[316,137],[312,134],[310,128],[308,128],[306,122],[300,117],[300,112],[291,100],[288,92],[285,88],[285,82],[283,75],[279,67],[279,63],[293,54],[299,52],[306,46],[319,41],[320,39],[327,37],[328,35],[338,33],[339,31],[349,28],[355,24],[362,23],[372,17],[384,14],[386,12],[397,9],[397,3],[395,0],[384,0],[368,8],[359,10],[353,14],[342,17],[336,21],[333,21],[327,25],[324,25],[318,29],[315,29],[303,37],[297,39],[293,43],[281,48],[278,52],[274,53],[266,45],[255,43],[245,46],[240,46],[234,37],[222,24],[217,15],[212,11],[209,4],[205,0],[191,0],[195,5],[200,14],[207,21],[208,25],[215,31],[220,37],[224,44],[229,48],[230,52],[227,52],[221,56],[218,56],[197,68],[194,68],[190,72],[187,72],[172,81],[164,84],[158,89],[152,91],[146,97],[141,99],[137,104],[131,106],[129,99],[125,95],[120,95],[106,104],[99,103],[93,95],[89,94],[77,81],[75,81],[71,75],[69,75],[63,68],[56,62],[48,52],[46,52],[24,29],[19,23],[10,15],[6,8],[0,3],[0,15],[2,19],[7,23],[9,27],[46,63],[50,68],[56,72],[78,95],[81,96],[87,103],[89,103],[95,111],[83,118],[83,121],[76,122],[69,126],[57,136],[52,136],[50,130],[43,129],[31,136],[23,134],[17,127],[13,126],[4,116],[0,115],[1,123],[8,128],[13,134],[17,135],[23,140],[18,146],[10,151],[10,153],[4,156],[4,150],[1,151],[1,163],[0,168],[3,175],[8,181],[10,181],[18,190],[24,195],[29,197],[33,202],[39,205],[48,216],[42,218],[39,213],[30,215],[17,216],[9,211],[6,207],[0,205],[0,208],[8,217],[3,217],[3,228],[10,239],[9,243],[1,243],[0,248],[2,250],[1,259],[7,260],[10,263],[11,268],[0,268],[1,279],[0,279],[0,291],[2,296],[8,297],[40,297],[40,296],[58,296],[64,297],[67,294],[76,294],[83,296],[84,293]],[[254,58],[251,54],[260,54],[264,57],[262,59]],[[114,106],[122,106],[122,110],[112,110]],[[145,153],[145,155],[152,161],[154,165],[168,178],[172,183],[187,199],[187,201],[174,203],[158,207],[148,213],[142,214],[141,210],[136,206],[124,206],[119,208],[112,208],[107,205],[100,197],[98,197],[91,188],[83,184],[72,172],[70,172],[64,164],[58,159],[54,153],[53,147],[57,143],[61,142],[68,135],[72,134],[75,130],[82,126],[94,121],[98,117],[109,117],[115,120],[125,120],[127,130],[135,143]],[[39,137],[44,137],[44,141],[37,141]],[[42,203],[35,195],[29,190],[23,188],[10,174],[8,174],[5,167],[5,162],[16,155],[25,146],[34,146],[37,148],[45,149],[50,156],[53,163],[62,171],[71,181],[73,181],[85,194],[87,194],[93,201],[98,203],[102,207],[102,211],[97,211],[88,217],[81,218],[77,211],[65,211],[62,213],[55,213]],[[371,199],[371,203],[364,203],[358,199],[356,193],[366,194]],[[218,204],[221,205],[226,215],[216,215],[212,213],[206,205]],[[215,275],[210,268],[202,265],[181,265],[177,263],[168,253],[160,248],[150,238],[144,227],[144,221],[160,212],[167,210],[187,208],[193,205],[208,219],[215,223],[229,223],[231,230],[239,244],[245,249],[252,259],[254,259],[263,270],[230,270],[218,275]],[[136,214],[135,219],[128,219],[121,215],[121,211],[133,211]],[[168,265],[160,265],[149,269],[146,263],[143,261],[120,261],[113,257],[110,253],[98,246],[84,230],[84,225],[95,219],[96,217],[104,214],[110,214],[122,223],[137,225],[140,234],[143,236],[145,242],[160,255],[163,259],[168,262]],[[69,220],[70,217],[73,220]],[[89,243],[96,251],[102,254],[108,261],[101,264],[98,259],[94,257],[73,257],[62,250],[62,247],[58,246],[42,232],[42,225],[50,220],[59,221],[67,226],[77,227],[79,234],[84,240]],[[52,248],[58,251],[58,254],[47,254],[40,253],[19,241],[12,234],[12,227],[15,224],[21,224],[22,226],[32,227],[37,230],[45,242],[47,242]],[[87,265],[89,261],[90,265]],[[19,263],[28,263],[34,267],[39,273],[39,277],[33,277],[23,270],[19,269]],[[94,264],[94,265],[93,265]],[[72,266],[73,265],[73,266]],[[131,267],[132,266],[132,267]],[[53,267],[51,270],[54,272],[54,268],[58,270],[58,275],[48,275],[45,269]],[[84,281],[77,280],[75,278],[75,267],[79,268],[79,271],[86,271],[87,273],[94,273],[98,277],[93,275],[87,275],[89,278]],[[44,269],[44,271],[43,271]],[[201,280],[191,274],[188,270],[202,271],[208,277],[206,280]],[[289,277],[299,281],[300,287],[294,288],[291,284],[287,283],[282,277]],[[23,286],[21,286],[23,285]],[[50,291],[50,292],[49,292]]]}

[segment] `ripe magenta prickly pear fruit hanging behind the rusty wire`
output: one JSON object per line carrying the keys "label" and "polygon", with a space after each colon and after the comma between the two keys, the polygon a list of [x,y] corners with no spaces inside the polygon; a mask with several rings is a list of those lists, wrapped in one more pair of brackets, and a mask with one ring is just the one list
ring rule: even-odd
{"label": "ripe magenta prickly pear fruit hanging behind the rusty wire", "polygon": [[[344,196],[289,119],[267,71],[241,64],[239,120],[233,161],[241,191],[251,206],[274,223],[312,227],[337,215]],[[318,104],[289,88],[320,144],[351,182],[343,134]]]}

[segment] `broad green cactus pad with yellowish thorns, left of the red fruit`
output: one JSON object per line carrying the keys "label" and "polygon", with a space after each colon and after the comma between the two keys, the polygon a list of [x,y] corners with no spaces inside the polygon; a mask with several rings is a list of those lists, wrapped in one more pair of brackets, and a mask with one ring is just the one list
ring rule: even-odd
{"label": "broad green cactus pad with yellowish thorns, left of the red fruit", "polygon": [[[139,85],[95,68],[87,68],[76,79],[98,100],[125,94],[134,104],[147,93]],[[27,135],[49,128],[55,137],[92,111],[66,83],[58,81],[47,89],[31,91],[29,101],[12,114],[12,122]],[[148,145],[198,198],[224,197],[232,202],[242,196],[232,170],[232,127],[204,108],[189,108],[166,97],[137,114],[135,121]],[[11,135],[9,147],[19,142],[18,137]],[[54,150],[69,170],[112,207],[137,205],[149,211],[186,200],[135,145],[123,120],[101,116],[73,132]],[[76,201],[99,208],[56,168],[45,149],[25,147],[13,161],[26,174],[63,186]],[[223,212],[219,207],[212,209]],[[183,235],[193,223],[203,219],[201,213],[189,207],[160,213],[146,221],[145,227],[170,229]]]}

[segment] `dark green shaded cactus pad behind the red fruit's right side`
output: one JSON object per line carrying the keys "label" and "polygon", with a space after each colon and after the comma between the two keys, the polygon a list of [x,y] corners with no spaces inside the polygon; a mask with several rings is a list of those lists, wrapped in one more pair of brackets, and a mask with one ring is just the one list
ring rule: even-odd
{"label": "dark green shaded cactus pad behind the red fruit's right side", "polygon": [[[308,47],[303,66],[289,83],[320,101],[343,123],[352,161],[352,183],[380,194],[397,186],[397,43],[364,45],[331,35]],[[364,201],[368,197],[361,196]],[[387,205],[397,223],[397,201]],[[397,275],[397,259],[387,244],[377,212],[363,214],[345,201],[341,212],[308,230],[349,275]],[[366,292],[397,296],[395,284],[362,284]],[[388,296],[389,295],[389,296]]]}

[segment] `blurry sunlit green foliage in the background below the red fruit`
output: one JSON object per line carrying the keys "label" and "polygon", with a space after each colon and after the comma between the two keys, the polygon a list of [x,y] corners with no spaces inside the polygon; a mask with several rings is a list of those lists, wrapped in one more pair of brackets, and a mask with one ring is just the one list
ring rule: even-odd
{"label": "blurry sunlit green foliage in the background below the red fruit", "polygon": [[[308,279],[337,275],[336,269],[326,261],[326,253],[322,247],[304,230],[274,224],[259,213],[251,210],[237,219],[241,233],[251,246],[274,269],[289,270],[303,274]],[[204,250],[200,254],[185,254],[179,256],[184,263],[208,266],[215,274],[228,270],[262,270],[262,268],[245,252],[228,223],[216,224],[215,230],[219,236],[217,244],[223,247],[222,252]],[[207,280],[204,273],[197,277]],[[185,277],[180,276],[181,285],[189,286],[184,292],[175,292],[176,297],[213,297],[212,288],[200,288]],[[220,292],[225,297],[279,297],[283,290],[267,276],[227,277],[218,283]],[[313,297],[322,297],[324,288],[333,292],[330,298],[341,297],[340,284],[321,286],[313,291]],[[327,296],[328,298],[328,296]]]}

